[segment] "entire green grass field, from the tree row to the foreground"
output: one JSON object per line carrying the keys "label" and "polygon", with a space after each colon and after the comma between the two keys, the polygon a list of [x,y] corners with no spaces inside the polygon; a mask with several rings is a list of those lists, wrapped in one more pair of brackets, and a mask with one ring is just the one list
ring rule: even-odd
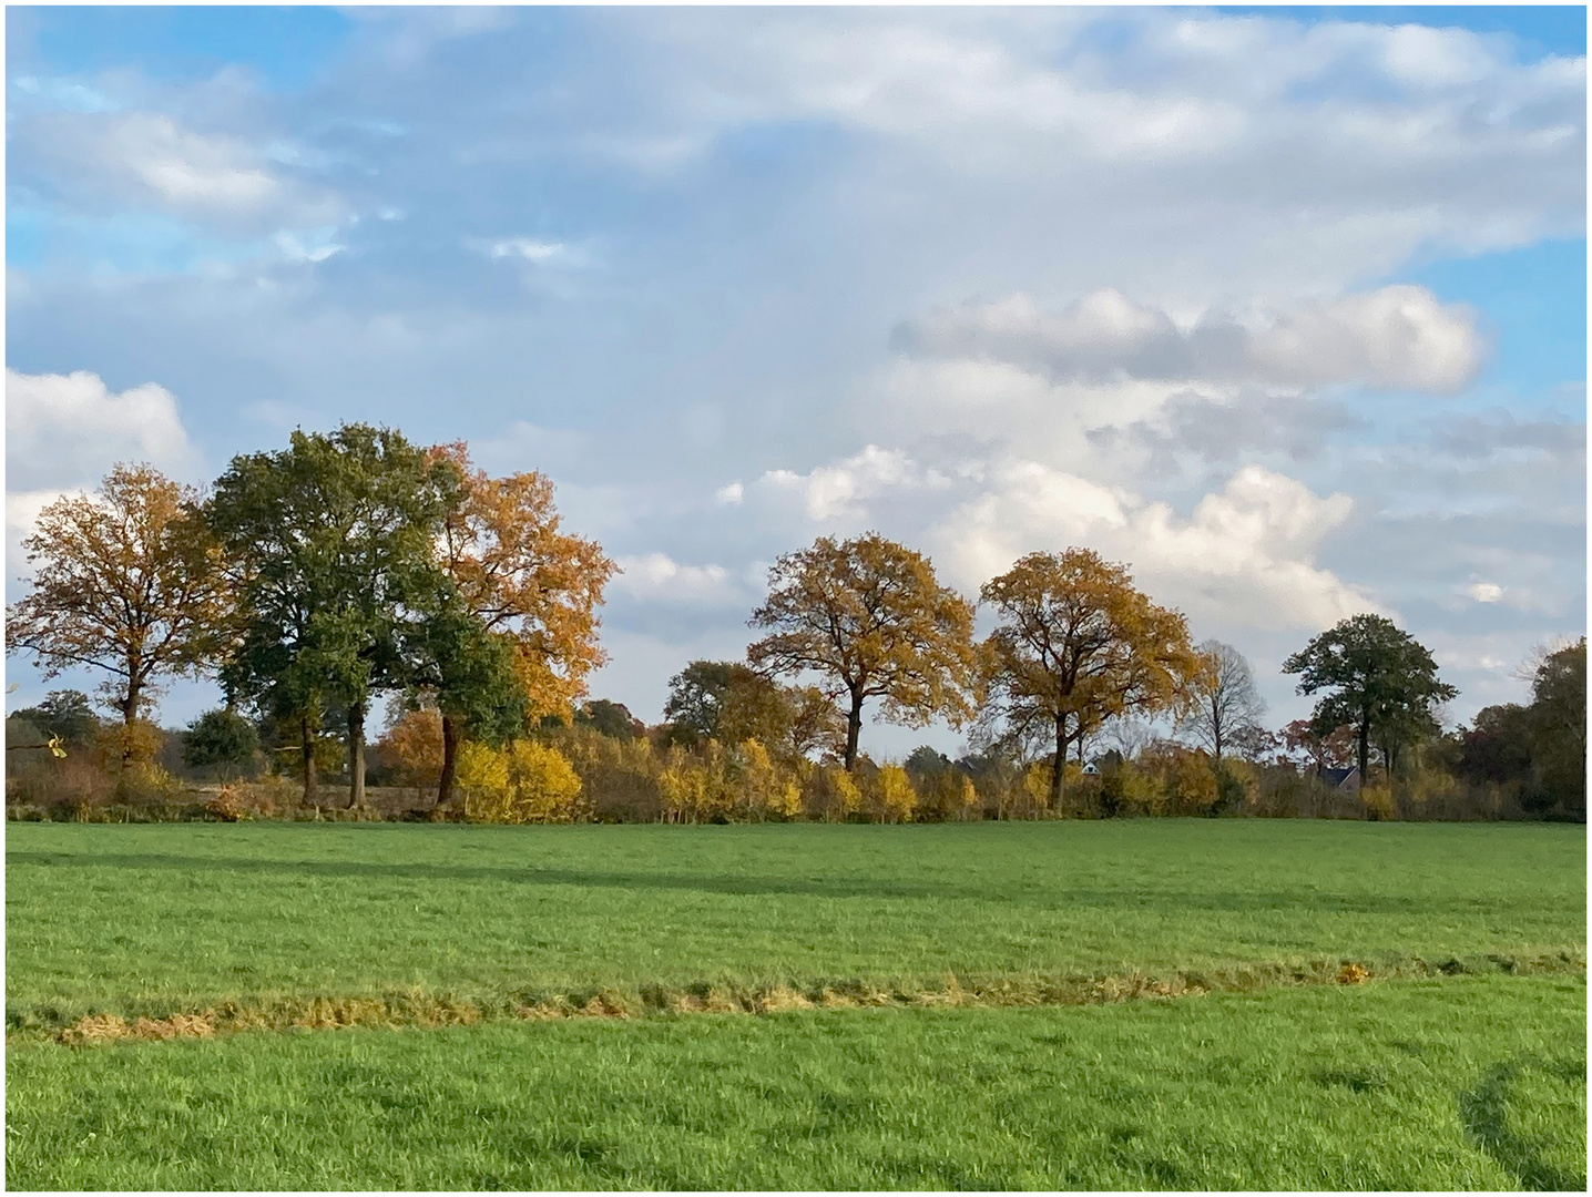
{"label": "entire green grass field, from the tree row to the foreground", "polygon": [[[6,860],[10,1187],[1584,1187],[1579,828],[10,825]],[[1192,995],[1054,1004],[1134,977]],[[780,987],[917,1008],[657,1012]],[[513,1017],[595,993],[651,1016]],[[285,1030],[51,1038],[217,1009]]]}

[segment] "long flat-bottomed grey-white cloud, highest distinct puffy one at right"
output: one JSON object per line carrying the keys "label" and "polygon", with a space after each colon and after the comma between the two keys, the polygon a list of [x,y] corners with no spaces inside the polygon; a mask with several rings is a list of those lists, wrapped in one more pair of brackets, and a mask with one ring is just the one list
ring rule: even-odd
{"label": "long flat-bottomed grey-white cloud, highest distinct puffy one at right", "polygon": [[1092,291],[1060,312],[1019,293],[920,317],[896,329],[895,344],[919,357],[1006,361],[1067,382],[1364,382],[1452,392],[1482,361],[1474,317],[1420,287],[1302,304],[1250,325],[1208,312],[1186,328],[1116,290]]}

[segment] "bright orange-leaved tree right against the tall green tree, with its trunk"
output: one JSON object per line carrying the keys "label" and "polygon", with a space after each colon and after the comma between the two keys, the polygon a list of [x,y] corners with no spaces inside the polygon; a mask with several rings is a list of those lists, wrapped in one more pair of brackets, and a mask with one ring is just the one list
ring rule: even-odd
{"label": "bright orange-leaved tree right against the tall green tree, with its trunk", "polygon": [[[597,645],[597,608],[615,563],[597,541],[560,532],[552,481],[544,474],[490,478],[474,468],[463,443],[433,452],[463,479],[443,527],[443,567],[465,610],[508,638],[530,718],[568,716],[586,694],[586,675],[607,659]],[[452,797],[463,731],[444,704],[439,805]]]}

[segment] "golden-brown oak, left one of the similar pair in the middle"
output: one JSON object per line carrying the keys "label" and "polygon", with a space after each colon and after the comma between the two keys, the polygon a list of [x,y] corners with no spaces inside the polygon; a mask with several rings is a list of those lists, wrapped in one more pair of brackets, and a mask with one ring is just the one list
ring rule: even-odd
{"label": "golden-brown oak, left one of the similar pair in the middle", "polygon": [[748,622],[771,632],[747,649],[755,667],[817,673],[841,699],[847,770],[868,699],[884,699],[885,718],[912,727],[973,713],[973,603],[936,581],[928,557],[879,533],[820,536],[780,556]]}

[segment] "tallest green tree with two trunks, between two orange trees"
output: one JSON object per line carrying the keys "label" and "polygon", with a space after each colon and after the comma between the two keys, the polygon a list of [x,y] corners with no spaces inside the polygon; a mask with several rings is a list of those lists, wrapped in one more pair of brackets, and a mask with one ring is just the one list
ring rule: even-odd
{"label": "tallest green tree with two trunks, between two orange trees", "polygon": [[349,805],[365,796],[371,699],[408,683],[401,624],[435,592],[435,541],[458,473],[390,428],[295,431],[282,452],[232,458],[207,519],[239,595],[223,670],[234,697],[298,719],[304,801],[317,791],[320,712],[347,712]]}

